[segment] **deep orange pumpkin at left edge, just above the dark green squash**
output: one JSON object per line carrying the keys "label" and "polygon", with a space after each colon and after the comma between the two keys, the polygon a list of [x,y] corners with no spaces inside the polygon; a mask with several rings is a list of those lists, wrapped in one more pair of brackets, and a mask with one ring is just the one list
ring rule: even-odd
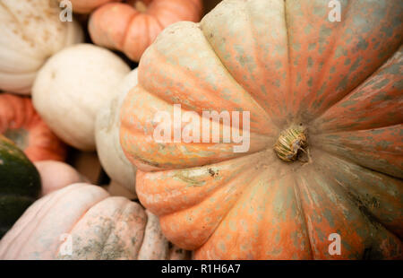
{"label": "deep orange pumpkin at left edge, just above the dark green squash", "polygon": [[0,134],[16,143],[30,161],[64,161],[66,145],[39,117],[30,98],[0,94]]}

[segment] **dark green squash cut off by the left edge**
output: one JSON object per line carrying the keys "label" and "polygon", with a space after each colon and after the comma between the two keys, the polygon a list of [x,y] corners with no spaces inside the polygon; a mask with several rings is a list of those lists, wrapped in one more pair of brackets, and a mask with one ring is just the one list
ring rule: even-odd
{"label": "dark green squash cut off by the left edge", "polygon": [[0,239],[40,192],[39,172],[27,156],[0,135]]}

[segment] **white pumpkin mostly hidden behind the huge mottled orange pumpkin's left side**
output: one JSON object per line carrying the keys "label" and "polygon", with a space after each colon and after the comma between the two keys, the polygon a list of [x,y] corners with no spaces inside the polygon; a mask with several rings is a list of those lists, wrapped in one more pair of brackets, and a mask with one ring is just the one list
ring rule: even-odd
{"label": "white pumpkin mostly hidden behind the huge mottled orange pumpkin's left side", "polygon": [[119,111],[127,92],[137,85],[137,69],[124,77],[116,88],[116,97],[99,109],[95,124],[95,140],[102,168],[109,178],[135,195],[136,169],[127,160],[119,140]]}

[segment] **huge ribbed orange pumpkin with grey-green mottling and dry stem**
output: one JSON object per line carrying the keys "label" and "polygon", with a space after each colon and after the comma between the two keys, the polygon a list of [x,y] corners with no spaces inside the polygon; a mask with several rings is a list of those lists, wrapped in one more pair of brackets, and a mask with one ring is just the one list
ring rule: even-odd
{"label": "huge ribbed orange pumpkin with grey-green mottling and dry stem", "polygon": [[[223,1],[141,57],[122,147],[141,204],[195,258],[402,257],[403,4],[339,3],[331,22],[325,0]],[[249,111],[249,151],[156,142],[173,104]]]}

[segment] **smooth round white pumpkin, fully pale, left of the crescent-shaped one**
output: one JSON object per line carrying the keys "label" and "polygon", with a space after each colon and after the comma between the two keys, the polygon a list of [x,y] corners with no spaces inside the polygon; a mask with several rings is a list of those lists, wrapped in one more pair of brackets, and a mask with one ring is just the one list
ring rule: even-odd
{"label": "smooth round white pumpkin, fully pale, left of the crescent-shaped one", "polygon": [[130,67],[105,48],[64,48],[40,69],[32,87],[34,107],[65,143],[94,151],[97,113],[113,100],[129,72]]}

